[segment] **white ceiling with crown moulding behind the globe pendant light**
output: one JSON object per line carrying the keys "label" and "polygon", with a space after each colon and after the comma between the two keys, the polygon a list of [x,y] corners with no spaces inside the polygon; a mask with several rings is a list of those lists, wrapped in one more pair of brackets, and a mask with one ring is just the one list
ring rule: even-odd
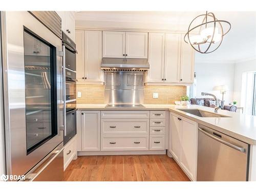
{"label": "white ceiling with crown moulding behind the globe pendant light", "polygon": [[[191,20],[205,12],[79,11],[77,28],[167,30],[185,32]],[[237,62],[256,56],[256,12],[214,12],[231,23],[215,52],[196,54],[197,62]]]}

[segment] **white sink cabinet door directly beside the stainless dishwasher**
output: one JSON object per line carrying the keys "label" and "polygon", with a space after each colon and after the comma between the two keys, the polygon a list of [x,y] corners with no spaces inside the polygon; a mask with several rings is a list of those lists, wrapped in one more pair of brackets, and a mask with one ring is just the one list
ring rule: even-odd
{"label": "white sink cabinet door directly beside the stainless dishwasher", "polygon": [[186,118],[181,120],[180,164],[191,179],[196,180],[197,167],[197,123]]}

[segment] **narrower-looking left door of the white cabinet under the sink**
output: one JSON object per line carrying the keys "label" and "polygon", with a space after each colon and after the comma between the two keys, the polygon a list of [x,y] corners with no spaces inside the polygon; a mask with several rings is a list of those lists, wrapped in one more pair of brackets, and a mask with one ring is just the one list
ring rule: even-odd
{"label": "narrower-looking left door of the white cabinet under the sink", "polygon": [[181,151],[181,121],[178,118],[174,114],[170,115],[170,152],[177,161],[180,160]]}

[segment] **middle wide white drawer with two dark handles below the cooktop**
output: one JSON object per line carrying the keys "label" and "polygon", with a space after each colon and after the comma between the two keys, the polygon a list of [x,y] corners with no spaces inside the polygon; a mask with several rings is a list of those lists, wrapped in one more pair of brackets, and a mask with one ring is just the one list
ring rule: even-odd
{"label": "middle wide white drawer with two dark handles below the cooktop", "polygon": [[103,119],[101,120],[102,134],[147,134],[149,120]]}

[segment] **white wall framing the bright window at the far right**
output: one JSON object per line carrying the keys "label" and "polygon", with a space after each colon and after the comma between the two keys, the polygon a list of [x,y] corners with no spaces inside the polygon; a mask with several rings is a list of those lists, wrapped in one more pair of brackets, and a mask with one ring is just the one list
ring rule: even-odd
{"label": "white wall framing the bright window at the far right", "polygon": [[256,59],[237,62],[234,65],[234,100],[241,103],[242,75],[245,72],[256,71]]}

